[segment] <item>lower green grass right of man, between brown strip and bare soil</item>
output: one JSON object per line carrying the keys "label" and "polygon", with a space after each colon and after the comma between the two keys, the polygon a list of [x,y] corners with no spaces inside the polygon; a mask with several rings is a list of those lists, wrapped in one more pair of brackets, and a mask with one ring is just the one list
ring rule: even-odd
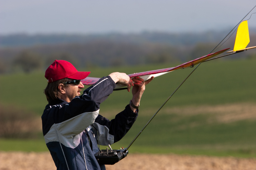
{"label": "lower green grass right of man, between brown strip and bare soil", "polygon": [[[142,129],[140,119],[113,147],[129,145]],[[207,115],[183,117],[175,114],[159,114],[140,134],[129,151],[131,153],[256,157],[255,120],[233,123],[217,121],[207,123],[207,120],[209,120]]]}

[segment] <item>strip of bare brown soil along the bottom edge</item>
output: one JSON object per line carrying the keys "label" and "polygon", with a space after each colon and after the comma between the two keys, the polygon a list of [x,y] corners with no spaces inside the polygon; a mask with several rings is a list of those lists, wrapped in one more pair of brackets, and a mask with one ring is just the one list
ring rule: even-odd
{"label": "strip of bare brown soil along the bottom edge", "polygon": [[[0,170],[54,170],[46,153],[0,152]],[[130,154],[107,170],[256,170],[256,158]]]}

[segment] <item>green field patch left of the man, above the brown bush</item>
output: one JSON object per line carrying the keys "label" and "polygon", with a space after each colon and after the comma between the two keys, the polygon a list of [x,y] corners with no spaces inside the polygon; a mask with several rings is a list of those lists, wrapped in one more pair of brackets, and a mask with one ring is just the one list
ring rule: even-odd
{"label": "green field patch left of the man, above the brown bush", "polygon": [[33,111],[40,115],[46,105],[43,90],[46,87],[44,74],[11,74],[0,76],[0,101]]}

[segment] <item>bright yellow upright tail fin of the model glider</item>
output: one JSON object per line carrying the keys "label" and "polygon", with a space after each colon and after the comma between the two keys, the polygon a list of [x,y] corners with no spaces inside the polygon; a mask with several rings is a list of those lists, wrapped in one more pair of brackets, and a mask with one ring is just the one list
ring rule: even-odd
{"label": "bright yellow upright tail fin of the model glider", "polygon": [[246,48],[249,42],[250,42],[250,37],[249,37],[248,23],[247,21],[243,21],[237,28],[236,40],[235,40],[233,51]]}

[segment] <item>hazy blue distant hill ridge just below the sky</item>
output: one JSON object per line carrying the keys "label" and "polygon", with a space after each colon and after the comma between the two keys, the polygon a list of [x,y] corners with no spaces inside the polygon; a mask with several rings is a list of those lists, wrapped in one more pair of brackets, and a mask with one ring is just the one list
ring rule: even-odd
{"label": "hazy blue distant hill ridge just below the sky", "polygon": [[204,32],[204,33],[165,33],[165,32],[142,32],[137,34],[13,34],[0,35],[1,47],[53,45],[70,43],[87,43],[96,40],[106,40],[115,42],[128,42],[132,44],[142,44],[146,42],[163,43],[169,45],[190,45],[198,42],[216,42],[222,40],[228,31]]}

